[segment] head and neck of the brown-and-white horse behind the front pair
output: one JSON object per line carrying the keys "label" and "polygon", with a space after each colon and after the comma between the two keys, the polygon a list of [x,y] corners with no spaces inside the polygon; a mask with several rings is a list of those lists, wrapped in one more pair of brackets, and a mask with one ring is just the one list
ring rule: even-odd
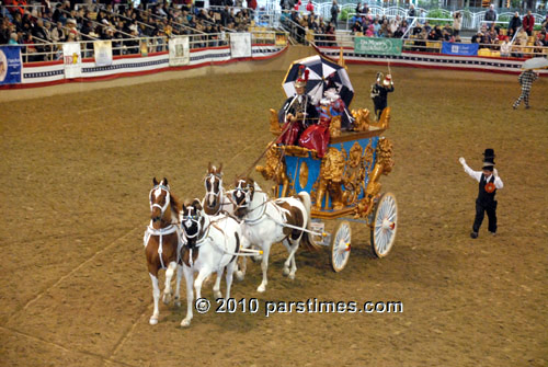
{"label": "head and neck of the brown-and-white horse behind the front pair", "polygon": [[209,162],[204,186],[206,194],[202,200],[202,206],[205,214],[208,216],[216,216],[222,211],[229,214],[233,213],[235,205],[231,202],[231,192],[229,192],[227,196],[222,187],[222,163],[219,168],[216,168]]}

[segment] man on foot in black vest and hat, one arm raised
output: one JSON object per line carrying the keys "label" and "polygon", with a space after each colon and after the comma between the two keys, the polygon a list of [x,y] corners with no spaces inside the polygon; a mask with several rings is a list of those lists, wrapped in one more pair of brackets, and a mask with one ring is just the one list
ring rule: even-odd
{"label": "man on foot in black vest and hat, one arm raised", "polygon": [[486,213],[489,218],[489,231],[494,236],[496,233],[496,200],[494,199],[494,195],[498,188],[503,187],[502,180],[499,177],[499,172],[496,172],[494,168],[494,150],[486,149],[483,153],[483,168],[481,171],[472,171],[472,169],[466,164],[466,160],[463,157],[460,157],[458,161],[463,164],[465,172],[479,182],[478,198],[476,198],[476,219],[473,219],[470,237],[472,239],[478,237]]}

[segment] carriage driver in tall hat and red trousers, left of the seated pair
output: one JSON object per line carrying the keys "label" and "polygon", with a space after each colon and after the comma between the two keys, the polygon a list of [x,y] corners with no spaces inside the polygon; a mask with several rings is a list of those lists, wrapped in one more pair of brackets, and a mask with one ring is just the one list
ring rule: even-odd
{"label": "carriage driver in tall hat and red trousers, left of the seated pair", "polygon": [[311,98],[306,93],[309,71],[305,66],[299,68],[299,77],[295,82],[297,94],[288,98],[278,112],[278,123],[283,124],[278,144],[294,146],[302,130],[318,121],[318,112]]}

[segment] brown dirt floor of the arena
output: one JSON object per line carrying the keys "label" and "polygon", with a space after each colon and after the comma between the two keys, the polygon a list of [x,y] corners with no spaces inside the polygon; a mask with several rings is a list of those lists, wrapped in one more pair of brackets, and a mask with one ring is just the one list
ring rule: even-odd
{"label": "brown dirt floor of the arena", "polygon": [[[377,69],[350,67],[352,107],[372,107]],[[0,366],[548,365],[547,78],[530,110],[513,111],[516,76],[393,68],[386,136],[396,167],[381,184],[400,221],[389,256],[375,259],[369,230],[352,223],[342,273],[328,249],[299,251],[292,282],[274,245],[267,291],[255,291],[256,264],[232,287],[238,300],[258,298],[259,312],[212,310],[181,329],[183,300],[161,303],[149,325],[152,177],[168,177],[180,198],[202,197],[213,161],[230,183],[272,138],[267,111],[285,100],[284,74],[159,74],[0,103]],[[486,148],[504,181],[499,232],[484,222],[471,240],[478,184],[457,159],[480,169]],[[210,286],[204,295],[213,300]],[[403,312],[265,317],[267,300],[315,298],[401,301]]]}

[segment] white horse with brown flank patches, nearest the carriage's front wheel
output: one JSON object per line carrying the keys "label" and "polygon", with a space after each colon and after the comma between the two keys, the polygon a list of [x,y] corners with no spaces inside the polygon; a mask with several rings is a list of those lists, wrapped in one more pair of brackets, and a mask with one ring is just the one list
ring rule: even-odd
{"label": "white horse with brown flank patches, nearest the carriage's front wheel", "polygon": [[243,218],[243,236],[252,245],[263,251],[261,262],[263,280],[256,290],[260,293],[266,290],[269,254],[274,242],[283,242],[286,246],[289,255],[284,263],[284,275],[294,279],[297,272],[295,253],[299,242],[304,239],[306,240],[304,244],[312,246],[308,241],[308,233],[302,231],[310,226],[310,195],[300,192],[297,197],[271,200],[252,179],[242,177],[236,181],[233,198],[238,205],[235,214]]}

